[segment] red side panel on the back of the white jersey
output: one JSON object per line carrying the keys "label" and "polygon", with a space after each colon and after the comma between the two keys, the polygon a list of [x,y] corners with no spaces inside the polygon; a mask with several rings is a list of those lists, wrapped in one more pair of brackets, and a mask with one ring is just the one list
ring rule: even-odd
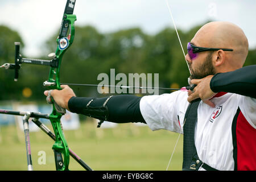
{"label": "red side panel on the back of the white jersey", "polygon": [[240,111],[237,118],[237,170],[256,170],[256,130]]}

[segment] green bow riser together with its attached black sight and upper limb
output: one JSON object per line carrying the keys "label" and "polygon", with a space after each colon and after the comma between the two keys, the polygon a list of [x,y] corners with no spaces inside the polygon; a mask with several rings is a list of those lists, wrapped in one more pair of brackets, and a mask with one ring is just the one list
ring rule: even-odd
{"label": "green bow riser together with its attached black sight and upper limb", "polygon": [[[55,53],[50,53],[48,57],[51,60],[29,59],[23,58],[20,55],[20,43],[15,42],[15,63],[6,63],[1,67],[6,69],[14,69],[14,81],[18,81],[20,65],[26,64],[38,64],[50,66],[49,78],[43,83],[48,89],[59,89],[60,87],[60,65],[65,51],[71,46],[75,37],[75,21],[76,15],[73,14],[76,0],[67,0],[63,19],[61,22],[59,36],[57,38],[57,48]],[[55,143],[53,144],[53,151],[55,154],[56,169],[60,171],[68,170],[69,166],[69,148],[67,140],[64,137],[61,127],[60,118],[65,114],[65,109],[58,106],[52,99],[52,113],[49,115],[54,133]]]}

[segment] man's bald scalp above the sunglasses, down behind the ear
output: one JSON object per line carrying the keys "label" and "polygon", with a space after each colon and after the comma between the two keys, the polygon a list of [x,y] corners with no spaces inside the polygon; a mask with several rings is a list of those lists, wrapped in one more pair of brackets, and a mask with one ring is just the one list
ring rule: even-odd
{"label": "man's bald scalp above the sunglasses, down behind the ear", "polygon": [[[201,47],[231,48],[226,53],[226,63],[241,68],[248,53],[248,40],[242,29],[229,22],[210,22],[197,31],[192,41]],[[191,41],[191,42],[192,42]]]}

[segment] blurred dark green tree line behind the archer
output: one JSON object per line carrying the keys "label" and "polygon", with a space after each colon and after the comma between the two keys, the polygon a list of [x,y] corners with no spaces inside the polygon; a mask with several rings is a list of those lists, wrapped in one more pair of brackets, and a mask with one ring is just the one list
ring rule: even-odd
{"label": "blurred dark green tree line behind the archer", "polygon": [[[183,46],[187,46],[187,42],[201,26],[195,26],[189,31],[179,30]],[[57,35],[52,35],[44,43],[45,55],[55,52],[56,37]],[[10,60],[14,63],[14,42],[21,42],[22,53],[22,48],[26,45],[18,32],[0,26],[0,65],[9,63]],[[256,49],[250,49],[245,65],[255,63]],[[100,73],[110,74],[111,68],[115,69],[115,73],[127,75],[159,73],[159,86],[167,88],[186,86],[189,76],[174,28],[166,27],[154,35],[148,35],[138,27],[100,33],[92,26],[77,26],[75,40],[65,52],[61,63],[61,82],[98,84],[100,81],[97,76]],[[14,82],[14,71],[0,69],[0,100],[44,102],[43,90],[47,88],[43,86],[43,82],[47,80],[48,73],[48,67],[24,64],[19,71],[19,81]],[[97,88],[72,88],[79,97],[102,97]],[[160,93],[164,92],[167,91]]]}

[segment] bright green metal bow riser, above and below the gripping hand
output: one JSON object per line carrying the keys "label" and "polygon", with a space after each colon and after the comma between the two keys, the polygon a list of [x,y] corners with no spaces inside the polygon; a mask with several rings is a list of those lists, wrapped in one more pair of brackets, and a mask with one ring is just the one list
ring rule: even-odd
{"label": "bright green metal bow riser, above and below the gripping hand", "polygon": [[[68,2],[67,2],[68,3]],[[75,21],[76,15],[64,14],[63,22],[61,24],[60,35],[57,38],[57,49],[55,52],[55,59],[57,60],[57,68],[51,67],[48,78],[49,89],[59,89],[60,87],[60,65],[65,51],[71,46],[75,38]],[[69,28],[69,32],[67,31]],[[65,34],[64,34],[65,33]],[[68,34],[68,36],[67,36]],[[49,115],[49,120],[52,123],[53,130],[56,135],[56,141],[52,146],[55,152],[56,169],[60,171],[68,170],[69,165],[69,150],[67,140],[64,137],[63,129],[61,127],[61,116],[64,113],[59,113],[56,110],[56,105],[53,102],[52,113]],[[64,161],[63,161],[64,158]]]}

